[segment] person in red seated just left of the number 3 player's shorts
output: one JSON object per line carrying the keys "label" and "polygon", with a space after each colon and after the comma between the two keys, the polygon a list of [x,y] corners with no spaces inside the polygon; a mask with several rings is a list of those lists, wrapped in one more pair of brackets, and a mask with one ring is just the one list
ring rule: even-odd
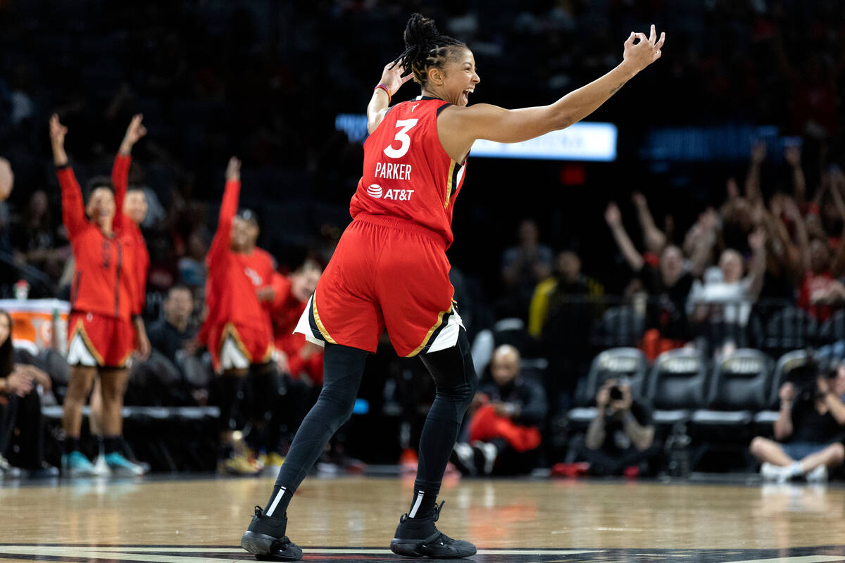
{"label": "person in red seated just left of the number 3 player's shorts", "polygon": [[289,276],[274,273],[275,295],[270,307],[279,371],[295,379],[308,376],[309,382],[318,387],[323,384],[323,349],[308,342],[303,334],[293,331],[303,316],[321,273],[323,268],[311,259]]}

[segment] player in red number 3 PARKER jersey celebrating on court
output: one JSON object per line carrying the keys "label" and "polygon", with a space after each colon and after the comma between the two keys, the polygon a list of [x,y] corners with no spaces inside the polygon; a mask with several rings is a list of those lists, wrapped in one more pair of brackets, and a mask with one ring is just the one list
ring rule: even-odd
{"label": "player in red number 3 PARKER jersey celebrating on court", "polygon": [[[479,83],[472,51],[440,35],[431,19],[412,16],[406,50],[384,67],[367,108],[370,136],[352,198],[354,220],[297,326],[325,345],[323,391],[294,437],[270,500],[256,508],[241,539],[244,549],[281,560],[302,556],[285,536],[288,503],[325,442],[352,414],[367,353],[386,328],[397,354],[420,355],[437,389],[420,437],[411,510],[401,517],[390,549],[436,558],[476,553],[474,545],[450,539],[434,525],[440,482],[477,388],[445,254],[466,157],[477,139],[515,143],[580,121],[657,60],[662,44],[654,26],[650,37],[631,33],[624,61],[602,78],[549,106],[510,111],[467,106]],[[403,78],[405,69],[412,74]],[[389,108],[391,95],[411,76],[422,95]]]}

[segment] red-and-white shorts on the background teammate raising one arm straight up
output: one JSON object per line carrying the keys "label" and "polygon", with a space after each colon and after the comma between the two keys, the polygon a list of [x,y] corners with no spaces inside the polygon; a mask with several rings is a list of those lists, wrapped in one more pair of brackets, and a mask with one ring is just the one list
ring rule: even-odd
{"label": "red-and-white shorts on the background teammate raising one arm straight up", "polygon": [[216,372],[247,369],[273,358],[273,334],[270,330],[244,327],[232,322],[209,330],[211,365]]}

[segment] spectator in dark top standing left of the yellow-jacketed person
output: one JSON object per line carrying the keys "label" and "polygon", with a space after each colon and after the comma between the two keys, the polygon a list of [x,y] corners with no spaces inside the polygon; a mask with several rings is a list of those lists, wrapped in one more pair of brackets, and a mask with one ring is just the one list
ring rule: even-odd
{"label": "spectator in dark top standing left of the yellow-jacketed person", "polygon": [[525,318],[537,283],[552,273],[552,249],[540,243],[540,230],[532,219],[519,228],[520,242],[502,253],[502,279],[506,292],[499,317]]}

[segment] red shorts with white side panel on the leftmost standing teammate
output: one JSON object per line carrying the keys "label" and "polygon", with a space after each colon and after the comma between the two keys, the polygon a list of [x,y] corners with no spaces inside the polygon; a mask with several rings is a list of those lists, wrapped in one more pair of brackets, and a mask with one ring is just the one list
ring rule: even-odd
{"label": "red shorts with white side panel on the leftmost standing teammate", "polygon": [[135,344],[132,322],[74,311],[68,319],[68,364],[125,367]]}

